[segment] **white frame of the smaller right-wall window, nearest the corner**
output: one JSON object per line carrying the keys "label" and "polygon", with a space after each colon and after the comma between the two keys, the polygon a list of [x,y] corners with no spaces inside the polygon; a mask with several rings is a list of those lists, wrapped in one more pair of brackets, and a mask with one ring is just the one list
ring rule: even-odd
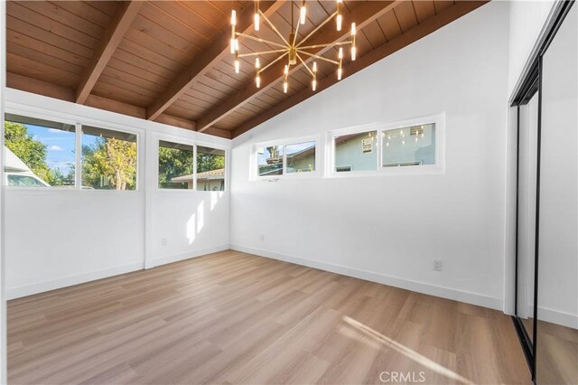
{"label": "white frame of the smaller right-wall window, nearest the corner", "polygon": [[[265,142],[256,143],[251,147],[251,180],[252,181],[268,181],[275,182],[281,179],[294,179],[294,178],[319,178],[321,176],[320,171],[320,136],[300,136],[294,138],[285,138],[279,140],[269,140]],[[266,146],[293,146],[299,145],[306,142],[315,143],[315,170],[307,173],[287,173],[287,151],[283,152],[283,174],[281,175],[259,175],[258,173],[258,155],[257,151],[260,147]]]}

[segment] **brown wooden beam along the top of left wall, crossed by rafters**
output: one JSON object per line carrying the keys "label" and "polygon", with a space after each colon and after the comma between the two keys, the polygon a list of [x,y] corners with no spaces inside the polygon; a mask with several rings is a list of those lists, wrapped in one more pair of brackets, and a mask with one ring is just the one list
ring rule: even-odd
{"label": "brown wooden beam along the top of left wall, crossed by rafters", "polygon": [[[11,89],[20,89],[26,92],[47,96],[54,99],[61,99],[74,102],[76,95],[74,89],[69,89],[46,81],[29,78],[14,72],[6,72],[6,86]],[[107,111],[117,112],[118,114],[130,117],[146,117],[146,110],[142,107],[133,106],[132,104],[123,103],[117,100],[89,95],[84,103],[86,106],[105,109]],[[180,127],[194,131],[195,122],[182,117],[173,117],[167,114],[161,114],[156,121],[172,127]],[[210,127],[205,134],[231,138],[231,132],[225,129]]]}

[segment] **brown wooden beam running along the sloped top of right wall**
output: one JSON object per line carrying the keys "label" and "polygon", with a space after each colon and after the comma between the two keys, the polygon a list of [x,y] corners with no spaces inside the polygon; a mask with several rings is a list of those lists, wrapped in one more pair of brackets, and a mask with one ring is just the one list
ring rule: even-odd
{"label": "brown wooden beam running along the sloped top of right wall", "polygon": [[[406,33],[402,33],[389,42],[385,42],[384,44],[380,45],[375,50],[366,53],[365,55],[358,58],[357,61],[351,61],[349,65],[343,68],[343,71],[347,74],[347,76],[350,76],[359,70],[363,70],[376,61],[379,61],[388,55],[401,50],[412,42],[418,41],[424,36],[433,33],[439,28],[442,28],[443,25],[452,23],[452,21],[460,18],[464,14],[468,14],[474,9],[488,2],[489,0],[456,2],[455,5],[444,9],[439,14],[436,14],[435,16],[425,20],[423,23],[416,25]],[[301,92],[298,92],[291,98],[285,99],[281,103],[277,104],[274,108],[270,108],[263,114],[253,117],[247,120],[245,123],[241,124],[235,130],[233,130],[233,137],[237,137],[247,132],[251,128],[266,122],[266,120],[269,120],[270,118],[279,115],[285,110],[294,107],[295,105],[301,103],[303,100],[311,98],[313,95],[319,93],[323,89],[330,88],[337,82],[338,80],[335,79],[335,76],[333,75],[329,75],[322,80],[318,80],[316,92],[313,92],[312,89],[309,88],[303,89]],[[197,122],[197,127],[199,127],[199,122]]]}

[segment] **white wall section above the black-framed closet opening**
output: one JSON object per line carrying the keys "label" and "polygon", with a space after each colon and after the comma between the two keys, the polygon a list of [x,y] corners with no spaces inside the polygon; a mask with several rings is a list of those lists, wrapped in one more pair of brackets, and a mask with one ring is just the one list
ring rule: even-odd
{"label": "white wall section above the black-framed closet opening", "polygon": [[535,49],[555,1],[516,0],[509,7],[508,95],[519,80],[527,59]]}

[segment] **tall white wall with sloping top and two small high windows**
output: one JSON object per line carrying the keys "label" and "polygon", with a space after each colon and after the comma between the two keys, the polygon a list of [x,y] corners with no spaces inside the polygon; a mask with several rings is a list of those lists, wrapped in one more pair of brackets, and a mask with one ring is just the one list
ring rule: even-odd
{"label": "tall white wall with sloping top and two small high windows", "polygon": [[[236,138],[232,247],[501,309],[508,7],[484,5]],[[254,143],[443,111],[444,174],[249,181]]]}

